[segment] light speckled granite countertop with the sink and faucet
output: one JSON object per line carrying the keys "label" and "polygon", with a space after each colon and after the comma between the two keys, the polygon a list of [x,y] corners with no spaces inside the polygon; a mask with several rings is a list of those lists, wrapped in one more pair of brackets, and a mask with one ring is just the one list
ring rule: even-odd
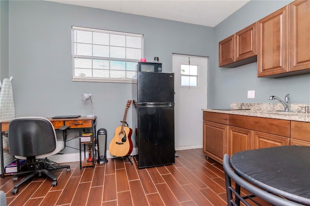
{"label": "light speckled granite countertop with the sink and faucet", "polygon": [[217,112],[233,115],[245,115],[252,117],[261,117],[261,118],[275,118],[275,119],[286,119],[294,121],[304,121],[310,122],[310,114],[306,113],[296,113],[296,112],[279,112],[274,110],[217,110],[217,109],[202,109],[202,111],[207,112]]}

